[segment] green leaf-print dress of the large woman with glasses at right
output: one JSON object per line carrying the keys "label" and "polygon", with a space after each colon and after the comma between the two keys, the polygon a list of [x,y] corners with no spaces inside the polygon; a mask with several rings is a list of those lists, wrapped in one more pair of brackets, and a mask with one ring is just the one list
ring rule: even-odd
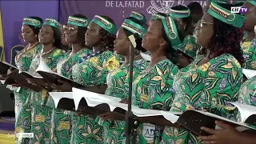
{"label": "green leaf-print dress of the large woman with glasses at right", "polygon": [[[198,66],[205,58],[200,55],[188,66],[183,77],[174,83],[176,94],[170,111],[203,110],[214,114],[222,112],[222,106],[238,100],[238,90],[242,85],[242,67],[230,54],[212,58],[210,62]],[[162,144],[200,143],[194,134],[182,128],[166,126]]]}

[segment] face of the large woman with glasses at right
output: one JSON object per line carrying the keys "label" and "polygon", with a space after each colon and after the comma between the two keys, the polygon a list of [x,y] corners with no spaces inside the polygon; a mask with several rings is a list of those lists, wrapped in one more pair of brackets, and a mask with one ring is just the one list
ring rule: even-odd
{"label": "face of the large woman with glasses at right", "polygon": [[202,16],[202,21],[198,26],[198,30],[196,32],[197,37],[197,43],[202,47],[207,47],[210,38],[212,38],[214,35],[214,18],[208,14],[205,13]]}

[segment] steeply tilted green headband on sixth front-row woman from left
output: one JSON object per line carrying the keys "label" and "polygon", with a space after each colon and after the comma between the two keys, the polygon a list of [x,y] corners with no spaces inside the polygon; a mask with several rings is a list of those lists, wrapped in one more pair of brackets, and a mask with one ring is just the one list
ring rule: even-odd
{"label": "steeply tilted green headband on sixth front-row woman from left", "polygon": [[177,50],[177,46],[180,45],[182,42],[178,37],[178,30],[174,22],[174,18],[170,18],[167,16],[166,18],[162,18],[162,25],[164,30],[166,31],[166,35],[173,46],[174,50]]}

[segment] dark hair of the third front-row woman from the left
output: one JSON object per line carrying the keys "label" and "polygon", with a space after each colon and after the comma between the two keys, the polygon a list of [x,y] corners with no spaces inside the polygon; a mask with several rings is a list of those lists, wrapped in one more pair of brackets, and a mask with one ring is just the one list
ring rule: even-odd
{"label": "dark hair of the third front-row woman from the left", "polygon": [[[72,15],[73,17],[76,18],[84,18],[84,19],[88,19],[85,15],[83,14],[74,14]],[[79,44],[82,46],[82,48],[86,47],[86,42],[85,42],[85,34],[87,31],[87,27],[83,27],[83,26],[78,26],[78,42]]]}

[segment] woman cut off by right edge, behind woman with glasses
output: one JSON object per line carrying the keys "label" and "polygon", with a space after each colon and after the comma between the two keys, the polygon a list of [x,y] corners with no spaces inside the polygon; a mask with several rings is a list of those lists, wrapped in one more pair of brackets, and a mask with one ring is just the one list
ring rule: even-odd
{"label": "woman cut off by right edge, behind woman with glasses", "polygon": [[242,42],[243,56],[246,59],[243,68],[256,70],[256,39],[254,33],[254,26],[256,25],[256,2],[254,0],[248,0],[244,6],[248,9],[245,22],[245,30],[247,37]]}

